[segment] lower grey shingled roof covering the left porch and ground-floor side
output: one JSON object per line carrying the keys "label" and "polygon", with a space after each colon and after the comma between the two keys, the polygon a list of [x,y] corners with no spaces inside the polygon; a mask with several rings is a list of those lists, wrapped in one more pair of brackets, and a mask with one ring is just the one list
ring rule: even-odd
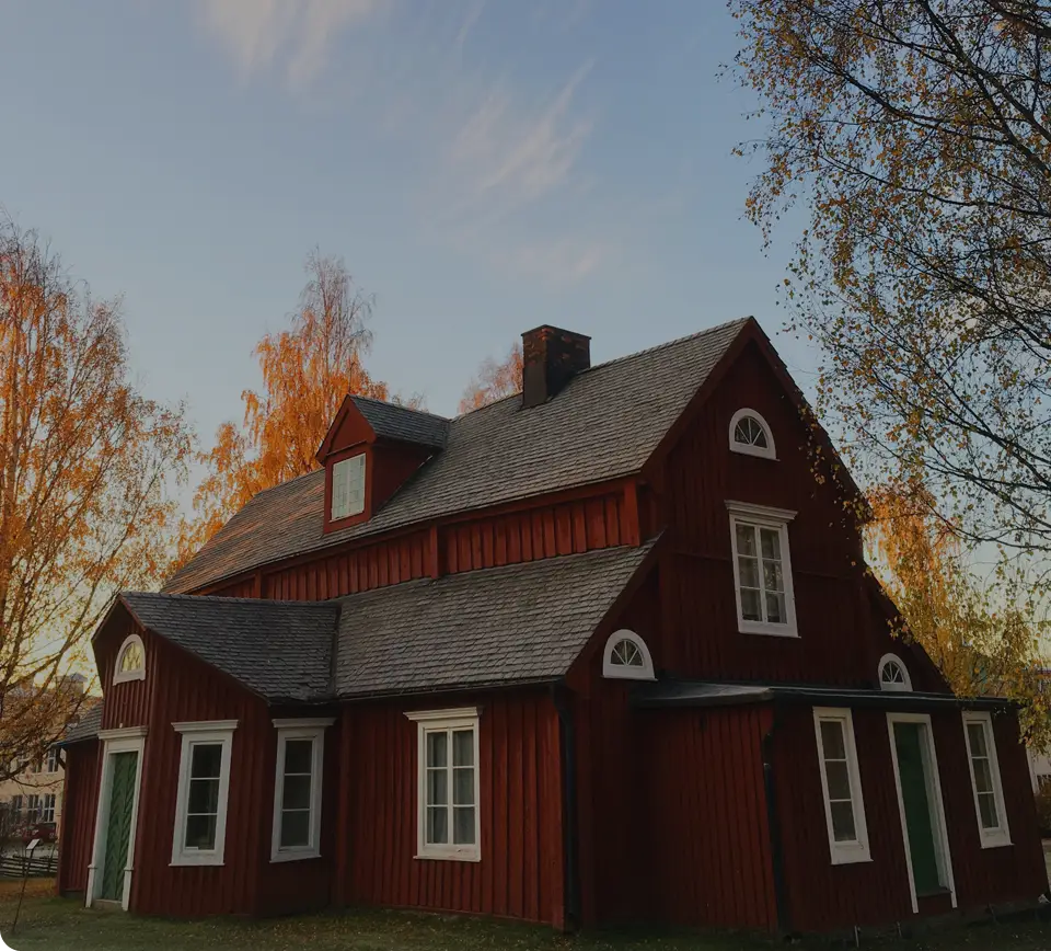
{"label": "lower grey shingled roof covering the left porch and ground-floor side", "polygon": [[119,600],[146,630],[272,703],[550,683],[568,672],[655,543],[327,601],[143,593]]}

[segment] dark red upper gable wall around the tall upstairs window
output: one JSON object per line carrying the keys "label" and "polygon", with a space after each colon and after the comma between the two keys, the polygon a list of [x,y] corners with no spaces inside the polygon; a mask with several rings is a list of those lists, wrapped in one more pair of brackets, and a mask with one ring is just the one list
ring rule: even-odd
{"label": "dark red upper gable wall around the tall upstairs window", "polygon": [[[743,408],[773,431],[777,460],[729,450]],[[669,454],[660,499],[669,524],[662,562],[672,632],[668,662],[680,676],[875,686],[880,656],[903,656],[917,689],[944,689],[877,617],[839,491],[816,481],[807,428],[754,346],[731,367]],[[727,500],[797,513],[788,527],[799,638],[738,631]]]}

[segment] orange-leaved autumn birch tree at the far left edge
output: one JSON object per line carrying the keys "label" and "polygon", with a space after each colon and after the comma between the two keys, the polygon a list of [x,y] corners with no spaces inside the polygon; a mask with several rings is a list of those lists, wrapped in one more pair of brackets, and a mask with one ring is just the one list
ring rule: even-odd
{"label": "orange-leaved autumn birch tree at the far left edge", "polygon": [[74,714],[113,594],[164,576],[190,450],[182,408],[132,381],[118,303],[0,219],[0,779]]}

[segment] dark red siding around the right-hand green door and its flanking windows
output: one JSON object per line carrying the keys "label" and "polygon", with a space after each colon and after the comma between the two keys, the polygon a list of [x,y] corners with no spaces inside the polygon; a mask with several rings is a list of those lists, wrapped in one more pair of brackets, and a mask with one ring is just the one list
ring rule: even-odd
{"label": "dark red siding around the right-hand green door and its flanking windows", "polygon": [[[813,711],[793,707],[778,713],[775,782],[793,930],[886,925],[913,916],[887,713],[854,710],[853,719],[873,861],[833,866]],[[1036,900],[1047,889],[1047,874],[1014,714],[1005,714],[996,724],[1008,823],[1016,843],[1007,848],[980,846],[960,712],[934,714],[932,725],[959,908]],[[942,904],[944,908],[921,902],[920,913],[949,910],[947,901]]]}

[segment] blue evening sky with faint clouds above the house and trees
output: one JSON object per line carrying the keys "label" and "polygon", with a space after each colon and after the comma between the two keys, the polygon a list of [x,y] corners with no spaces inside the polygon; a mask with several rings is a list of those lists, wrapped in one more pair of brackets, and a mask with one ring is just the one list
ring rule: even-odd
{"label": "blue evening sky with faint clouds above the house and trees", "polygon": [[596,362],[774,334],[793,236],[764,257],[742,220],[735,49],[696,0],[0,0],[0,204],[124,296],[143,388],[206,442],[315,244],[377,297],[370,370],[452,413],[539,323]]}

